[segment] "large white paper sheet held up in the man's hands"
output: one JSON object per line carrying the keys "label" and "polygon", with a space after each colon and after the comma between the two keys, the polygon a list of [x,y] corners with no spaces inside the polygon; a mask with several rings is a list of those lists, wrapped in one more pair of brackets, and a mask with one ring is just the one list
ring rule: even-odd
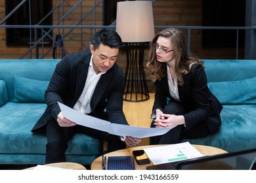
{"label": "large white paper sheet held up in the man's hands", "polygon": [[100,131],[106,131],[112,135],[131,136],[136,138],[153,137],[167,133],[171,128],[137,127],[131,125],[112,124],[106,120],[100,120],[93,116],[83,114],[62,103],[58,103],[63,116],[78,125],[91,127]]}

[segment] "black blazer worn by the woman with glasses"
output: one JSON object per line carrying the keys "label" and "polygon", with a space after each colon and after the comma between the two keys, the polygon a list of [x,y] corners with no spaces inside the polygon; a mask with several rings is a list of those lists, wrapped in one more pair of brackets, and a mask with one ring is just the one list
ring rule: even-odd
{"label": "black blazer worn by the woman with glasses", "polygon": [[[181,105],[186,109],[184,114],[186,129],[205,122],[209,131],[215,133],[221,125],[220,112],[222,105],[219,100],[210,92],[207,86],[207,77],[201,65],[193,65],[188,75],[183,75],[184,84],[178,86]],[[167,97],[172,101],[168,87],[167,76],[161,78],[156,84],[156,95],[152,110],[163,109]]]}

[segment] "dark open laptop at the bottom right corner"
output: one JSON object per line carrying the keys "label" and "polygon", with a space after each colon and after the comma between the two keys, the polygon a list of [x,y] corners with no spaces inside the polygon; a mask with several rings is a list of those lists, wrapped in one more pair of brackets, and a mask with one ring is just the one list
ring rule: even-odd
{"label": "dark open laptop at the bottom right corner", "polygon": [[186,159],[160,165],[150,165],[147,170],[250,170],[256,160],[256,148],[218,154],[215,156],[203,156],[200,158]]}

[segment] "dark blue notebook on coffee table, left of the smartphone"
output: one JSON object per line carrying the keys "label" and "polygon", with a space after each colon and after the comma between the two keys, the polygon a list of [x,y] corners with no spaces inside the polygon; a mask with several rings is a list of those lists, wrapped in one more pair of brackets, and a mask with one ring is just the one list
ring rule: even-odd
{"label": "dark blue notebook on coffee table, left of the smartphone", "polygon": [[108,170],[135,170],[133,156],[108,157]]}

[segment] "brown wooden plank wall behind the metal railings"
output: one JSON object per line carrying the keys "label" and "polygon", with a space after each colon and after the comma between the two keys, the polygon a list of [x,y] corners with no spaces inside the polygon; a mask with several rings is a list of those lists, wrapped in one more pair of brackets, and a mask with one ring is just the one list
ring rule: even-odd
{"label": "brown wooden plank wall behind the metal railings", "polygon": [[[60,1],[53,0],[53,7],[55,7]],[[53,13],[53,24],[58,22],[64,12],[68,12],[74,5],[77,3],[77,0],[66,0],[64,1],[64,7],[60,6],[58,10],[55,10]],[[97,1],[98,3],[98,1]],[[64,25],[76,25],[81,18],[81,10],[83,16],[87,14],[95,5],[95,1],[85,0],[82,3],[82,7],[79,6],[66,17]],[[59,14],[57,13],[59,12]],[[202,0],[191,1],[191,0],[156,0],[153,5],[154,12],[154,24],[156,26],[201,26],[202,25]],[[96,25],[102,25],[102,16],[103,10],[102,5],[99,8],[96,8]],[[0,0],[0,20],[5,17],[5,0]],[[83,21],[82,25],[95,25],[95,14],[91,14]],[[60,25],[63,25],[63,22],[60,22]],[[70,31],[66,29],[65,33]],[[65,48],[68,52],[74,52],[77,50],[84,50],[83,46],[86,47],[91,41],[91,32],[94,30],[83,29],[82,39],[81,39],[81,30],[73,29],[70,35],[68,35],[64,42]],[[156,29],[156,33],[161,31]],[[63,33],[63,29],[54,29],[53,37],[56,36],[56,33]],[[186,30],[184,30],[186,34]],[[235,59],[236,58],[236,49],[235,48],[203,48],[202,47],[202,30],[192,30],[191,31],[191,44],[190,50],[194,54],[200,56],[203,59],[219,58],[219,59]],[[81,48],[82,45],[82,48]],[[46,47],[47,48],[47,47]],[[14,50],[16,54],[13,54]],[[7,47],[5,44],[5,28],[0,27],[0,58],[20,58],[23,52],[26,52],[28,48],[24,47]],[[32,51],[34,52],[34,51]],[[40,51],[41,52],[41,51]],[[121,52],[119,56],[119,63],[122,67],[126,65],[125,52]],[[47,58],[51,58],[52,55],[49,54]],[[240,48],[239,58],[244,58],[244,50]]]}

